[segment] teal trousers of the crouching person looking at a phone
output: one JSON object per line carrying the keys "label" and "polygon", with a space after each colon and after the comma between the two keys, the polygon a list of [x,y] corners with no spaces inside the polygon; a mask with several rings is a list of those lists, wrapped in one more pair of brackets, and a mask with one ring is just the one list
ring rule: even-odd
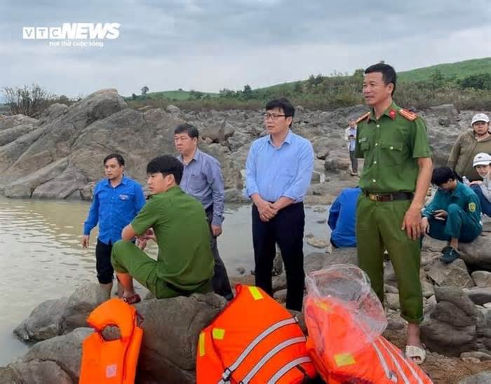
{"label": "teal trousers of the crouching person looking at a phone", "polygon": [[471,220],[471,215],[462,210],[457,204],[450,204],[447,208],[447,219],[428,219],[431,238],[438,240],[450,240],[458,238],[462,242],[475,240],[483,231],[483,227]]}

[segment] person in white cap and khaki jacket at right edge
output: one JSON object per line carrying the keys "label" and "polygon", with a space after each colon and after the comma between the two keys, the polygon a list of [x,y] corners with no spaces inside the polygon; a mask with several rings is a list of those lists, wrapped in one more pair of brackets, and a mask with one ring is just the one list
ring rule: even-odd
{"label": "person in white cap and khaki jacket at right edge", "polygon": [[473,167],[473,158],[478,153],[491,153],[490,118],[486,114],[476,114],[472,118],[472,130],[457,137],[447,165],[460,177],[471,181],[481,180]]}

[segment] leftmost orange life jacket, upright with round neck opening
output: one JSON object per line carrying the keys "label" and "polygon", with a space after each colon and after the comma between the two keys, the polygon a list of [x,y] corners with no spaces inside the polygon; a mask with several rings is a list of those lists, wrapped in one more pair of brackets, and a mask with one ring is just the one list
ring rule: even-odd
{"label": "leftmost orange life jacket, upright with round neck opening", "polygon": [[[95,332],[83,341],[79,383],[135,383],[143,336],[135,308],[121,299],[111,299],[95,308],[87,322]],[[121,338],[106,341],[101,332],[108,325],[119,327]]]}

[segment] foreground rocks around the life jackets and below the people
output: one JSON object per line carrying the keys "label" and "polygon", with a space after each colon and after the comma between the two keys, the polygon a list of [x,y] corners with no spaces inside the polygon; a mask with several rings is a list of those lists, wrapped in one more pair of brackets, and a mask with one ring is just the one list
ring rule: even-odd
{"label": "foreground rocks around the life jackets and below the people", "polygon": [[[424,242],[422,338],[430,352],[422,367],[435,383],[480,384],[491,378],[491,273],[486,270],[491,261],[487,252],[491,223],[485,229],[476,242],[465,247],[462,259],[450,265],[438,260],[443,242]],[[472,263],[466,264],[467,260]],[[304,266],[309,273],[336,263],[356,263],[356,249],[309,254]],[[274,297],[283,303],[285,274],[281,266],[276,269]],[[254,277],[236,277],[237,282],[253,284]],[[389,326],[384,336],[403,348],[406,323],[400,317],[396,278],[389,261],[385,264],[385,290]],[[14,331],[22,341],[34,345],[17,362],[0,368],[0,383],[76,383],[81,341],[91,332],[86,317],[102,300],[97,284],[84,284],[69,297],[36,306]],[[194,383],[199,331],[224,306],[224,299],[215,294],[161,300],[148,296],[137,304],[144,318],[137,383]]]}

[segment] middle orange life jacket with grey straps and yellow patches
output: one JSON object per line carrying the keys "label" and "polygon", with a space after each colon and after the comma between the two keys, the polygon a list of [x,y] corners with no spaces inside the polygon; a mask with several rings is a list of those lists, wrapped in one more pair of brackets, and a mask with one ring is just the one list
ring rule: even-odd
{"label": "middle orange life jacket with grey straps and yellow patches", "polygon": [[297,319],[258,287],[236,297],[201,331],[198,384],[292,384],[316,375]]}

